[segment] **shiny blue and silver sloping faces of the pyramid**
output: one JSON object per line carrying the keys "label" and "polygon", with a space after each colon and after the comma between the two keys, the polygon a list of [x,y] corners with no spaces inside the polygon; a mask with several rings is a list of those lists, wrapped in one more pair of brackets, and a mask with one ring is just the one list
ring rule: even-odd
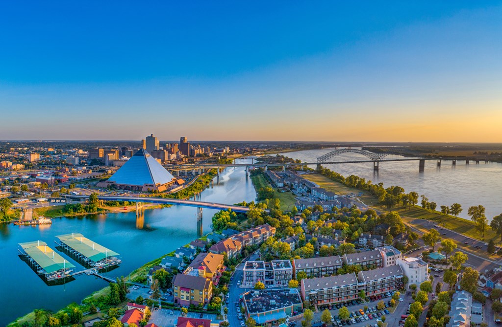
{"label": "shiny blue and silver sloping faces of the pyramid", "polygon": [[145,149],[140,149],[109,179],[116,184],[163,185],[172,182],[174,176],[155,160]]}

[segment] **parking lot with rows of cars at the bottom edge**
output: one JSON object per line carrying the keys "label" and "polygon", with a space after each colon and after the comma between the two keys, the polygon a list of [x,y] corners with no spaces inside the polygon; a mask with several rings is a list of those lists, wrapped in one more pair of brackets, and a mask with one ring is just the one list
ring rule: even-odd
{"label": "parking lot with rows of cars at the bottom edge", "polygon": [[[408,299],[408,297],[409,297],[409,299]],[[389,312],[389,313],[387,313],[385,311],[387,308],[384,310],[376,309],[376,305],[378,304],[379,301],[384,301],[384,303],[386,303],[387,306],[389,306],[388,301],[391,300],[390,296],[386,296],[386,297],[382,296],[382,299],[371,300],[366,303],[362,302],[361,300],[359,300],[359,301],[355,300],[356,304],[352,304],[351,302],[335,303],[334,305],[333,304],[331,305],[331,309],[329,309],[329,307],[327,305],[324,305],[322,307],[319,307],[319,312],[314,313],[314,323],[320,322],[322,311],[324,311],[324,309],[327,308],[331,312],[331,315],[334,318],[333,319],[334,326],[353,325],[356,327],[363,327],[363,326],[372,326],[373,327],[376,323],[378,323],[379,320],[382,319],[383,315],[386,316],[386,322],[389,322],[390,326],[394,326],[394,325],[398,326],[399,320],[401,319],[401,315],[405,314],[406,310],[408,309],[408,304],[411,301],[411,295],[410,296],[401,295],[401,298],[403,299],[403,301],[402,302],[398,301],[399,304],[398,304],[398,307],[396,308],[396,311],[394,313],[390,313],[389,311],[387,311],[387,312]],[[338,319],[339,308],[337,308],[336,306],[341,307],[342,303],[344,304],[344,306],[347,307],[347,309],[350,312],[349,319],[346,319],[346,320]],[[367,320],[365,319],[364,314],[361,314],[361,312],[359,311],[359,310],[364,310],[364,306],[368,307],[368,310],[364,312],[364,314],[368,317]],[[370,316],[371,316],[371,318],[370,318]],[[357,320],[359,320],[359,321],[357,321]],[[339,324],[338,324],[338,321],[340,322]],[[355,321],[355,323],[353,323],[352,321]]]}

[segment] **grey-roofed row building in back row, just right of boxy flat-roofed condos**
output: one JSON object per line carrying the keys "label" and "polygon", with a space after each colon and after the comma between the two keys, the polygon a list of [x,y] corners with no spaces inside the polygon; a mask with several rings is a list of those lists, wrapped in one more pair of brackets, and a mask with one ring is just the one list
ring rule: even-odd
{"label": "grey-roofed row building in back row, just right of boxy flat-roofed condos", "polygon": [[300,271],[311,277],[329,276],[335,274],[342,265],[343,261],[339,255],[293,260],[295,276]]}

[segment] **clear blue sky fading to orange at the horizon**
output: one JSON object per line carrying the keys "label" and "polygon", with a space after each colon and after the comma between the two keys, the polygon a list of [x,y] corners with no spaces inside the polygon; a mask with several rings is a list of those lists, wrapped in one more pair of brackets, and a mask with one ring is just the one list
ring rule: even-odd
{"label": "clear blue sky fading to orange at the horizon", "polygon": [[1,2],[0,140],[502,142],[500,1]]}

